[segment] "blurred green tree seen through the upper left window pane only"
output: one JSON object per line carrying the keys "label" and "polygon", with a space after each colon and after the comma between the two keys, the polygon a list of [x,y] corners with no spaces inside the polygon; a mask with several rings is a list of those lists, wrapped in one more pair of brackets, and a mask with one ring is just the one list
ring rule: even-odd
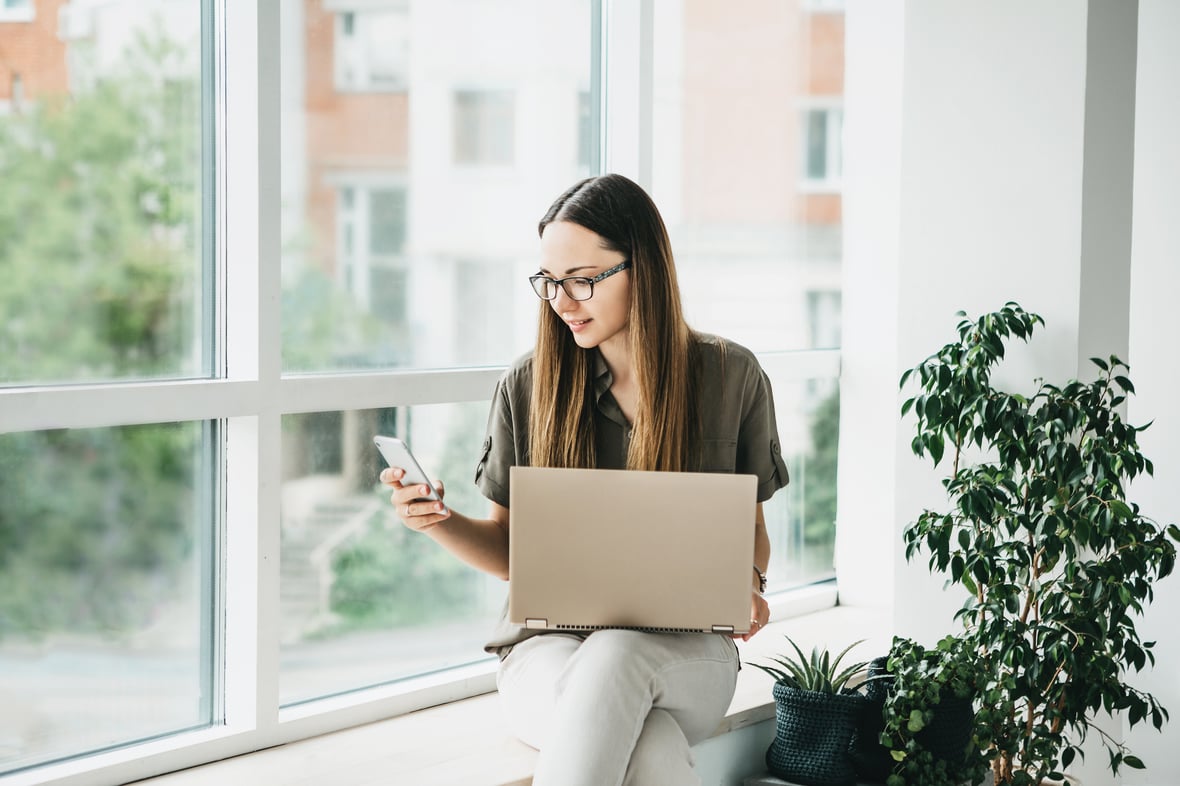
{"label": "blurred green tree seen through the upper left window pane only", "polygon": [[0,382],[198,373],[199,83],[123,72],[0,122]]}

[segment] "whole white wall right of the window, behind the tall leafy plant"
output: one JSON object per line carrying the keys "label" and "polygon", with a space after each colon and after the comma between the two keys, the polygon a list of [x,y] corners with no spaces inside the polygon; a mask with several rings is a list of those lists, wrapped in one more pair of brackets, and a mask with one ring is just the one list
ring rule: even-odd
{"label": "whole white wall right of the window, behind the tall leafy plant", "polygon": [[[837,558],[841,602],[891,605],[898,634],[936,638],[962,601],[924,558],[904,561],[902,528],[944,496],[940,473],[910,452],[897,391],[905,368],[955,338],[959,309],[1016,300],[1045,317],[1001,367],[1017,389],[1038,375],[1089,375],[1080,359],[1094,354],[1128,358],[1140,389],[1132,420],[1156,419],[1145,450],[1159,480],[1136,486],[1136,499],[1178,518],[1168,490],[1180,487],[1180,425],[1167,423],[1167,385],[1180,381],[1168,302],[1180,292],[1180,4],[1142,9],[1133,225],[1136,4],[848,1]],[[1160,664],[1143,687],[1180,719],[1180,636],[1163,623],[1178,592],[1180,578],[1161,584],[1145,622]],[[1163,747],[1174,726],[1163,738],[1135,734],[1150,769],[1127,782],[1180,782]],[[1104,761],[1090,756],[1087,786],[1115,782]]]}

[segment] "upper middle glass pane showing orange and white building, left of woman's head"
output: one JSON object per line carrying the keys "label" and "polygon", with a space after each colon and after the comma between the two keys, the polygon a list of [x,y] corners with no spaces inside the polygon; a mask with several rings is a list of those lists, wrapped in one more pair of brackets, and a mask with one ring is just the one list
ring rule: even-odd
{"label": "upper middle glass pane showing orange and white building, left of woman's head", "polygon": [[283,6],[283,368],[506,363],[597,148],[591,0],[340,5]]}

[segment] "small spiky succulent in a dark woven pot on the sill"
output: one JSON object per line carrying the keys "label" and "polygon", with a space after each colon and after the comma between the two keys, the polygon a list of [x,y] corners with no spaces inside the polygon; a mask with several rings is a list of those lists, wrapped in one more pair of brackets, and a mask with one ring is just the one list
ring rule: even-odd
{"label": "small spiky succulent in a dark woven pot on the sill", "polygon": [[853,786],[851,746],[865,697],[850,683],[864,675],[866,663],[841,669],[840,662],[860,642],[835,657],[819,648],[806,656],[786,638],[793,654],[772,659],[771,664],[750,664],[774,677],[775,736],[766,766],[802,786]]}

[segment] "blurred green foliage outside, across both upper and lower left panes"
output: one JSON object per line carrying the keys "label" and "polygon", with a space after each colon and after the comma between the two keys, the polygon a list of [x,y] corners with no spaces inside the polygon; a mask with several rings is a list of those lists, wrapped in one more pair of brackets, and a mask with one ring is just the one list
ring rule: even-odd
{"label": "blurred green foliage outside, across both upper and lower left panes", "polygon": [[[0,118],[0,382],[202,373],[185,61],[140,32],[114,72]],[[0,637],[118,636],[191,590],[202,444],[196,423],[0,435]]]}

